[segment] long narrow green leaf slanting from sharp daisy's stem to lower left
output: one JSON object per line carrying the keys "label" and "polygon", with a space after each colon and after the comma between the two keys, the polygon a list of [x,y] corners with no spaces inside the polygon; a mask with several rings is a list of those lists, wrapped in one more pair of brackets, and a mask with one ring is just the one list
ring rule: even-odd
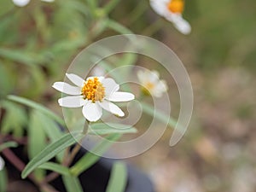
{"label": "long narrow green leaf slanting from sharp daisy's stem to lower left", "polygon": [[59,154],[65,148],[73,145],[74,143],[76,143],[77,140],[81,139],[82,137],[84,137],[82,134],[74,135],[71,133],[67,133],[55,143],[50,143],[49,146],[44,148],[44,150],[40,154],[35,156],[26,165],[25,169],[21,173],[21,177],[26,178],[38,166],[55,157],[56,154]]}

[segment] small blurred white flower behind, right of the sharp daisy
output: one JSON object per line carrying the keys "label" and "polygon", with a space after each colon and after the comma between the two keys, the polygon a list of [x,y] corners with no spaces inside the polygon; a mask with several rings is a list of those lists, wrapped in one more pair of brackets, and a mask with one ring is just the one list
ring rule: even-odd
{"label": "small blurred white flower behind, right of the sharp daisy", "polygon": [[159,79],[157,71],[138,71],[137,78],[143,86],[143,91],[152,96],[160,97],[168,90],[166,81]]}

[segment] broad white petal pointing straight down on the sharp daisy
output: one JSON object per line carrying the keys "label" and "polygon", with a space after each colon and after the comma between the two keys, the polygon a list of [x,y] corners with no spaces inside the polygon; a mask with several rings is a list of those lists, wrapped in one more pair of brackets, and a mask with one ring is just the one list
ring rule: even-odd
{"label": "broad white petal pointing straight down on the sharp daisy", "polygon": [[83,107],[84,118],[95,122],[102,117],[102,108],[93,102],[87,102]]}

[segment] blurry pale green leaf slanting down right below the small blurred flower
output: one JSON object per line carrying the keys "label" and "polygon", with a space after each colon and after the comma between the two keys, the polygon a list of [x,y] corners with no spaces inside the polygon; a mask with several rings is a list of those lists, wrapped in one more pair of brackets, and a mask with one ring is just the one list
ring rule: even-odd
{"label": "blurry pale green leaf slanting down right below the small blurred flower", "polygon": [[148,113],[152,117],[159,119],[163,123],[167,123],[172,128],[174,128],[177,125],[177,121],[175,119],[173,119],[170,116],[167,116],[165,113],[160,112],[159,110],[156,110],[151,105],[148,105],[148,103],[141,102],[141,105],[143,106],[143,111],[145,113]]}

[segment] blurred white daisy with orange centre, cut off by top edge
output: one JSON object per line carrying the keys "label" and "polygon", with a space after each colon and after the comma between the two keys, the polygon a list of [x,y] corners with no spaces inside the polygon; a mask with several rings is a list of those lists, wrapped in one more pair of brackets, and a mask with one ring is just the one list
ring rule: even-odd
{"label": "blurred white daisy with orange centre, cut off by top edge", "polygon": [[154,11],[165,17],[183,34],[191,32],[191,26],[187,20],[183,19],[184,0],[150,0],[150,5]]}

